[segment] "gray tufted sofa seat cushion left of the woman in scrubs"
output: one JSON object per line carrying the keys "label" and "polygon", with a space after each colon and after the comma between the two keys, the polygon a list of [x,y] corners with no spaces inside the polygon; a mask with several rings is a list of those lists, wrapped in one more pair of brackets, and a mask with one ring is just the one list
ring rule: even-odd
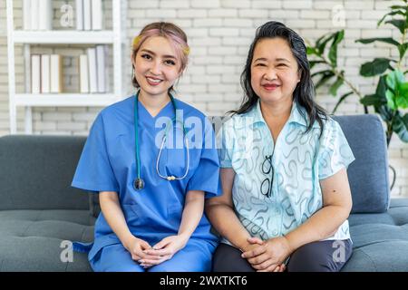
{"label": "gray tufted sofa seat cushion left of the woman in scrubs", "polygon": [[63,241],[92,241],[88,210],[1,210],[0,271],[91,271],[87,255],[62,262]]}

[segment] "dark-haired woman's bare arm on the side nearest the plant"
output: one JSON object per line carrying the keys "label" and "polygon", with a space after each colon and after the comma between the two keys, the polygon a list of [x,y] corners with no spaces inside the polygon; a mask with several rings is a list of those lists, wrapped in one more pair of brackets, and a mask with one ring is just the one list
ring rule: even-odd
{"label": "dark-haired woman's bare arm on the side nearest the plant", "polygon": [[320,180],[320,187],[323,208],[286,236],[292,251],[308,243],[333,236],[350,214],[353,203],[346,169]]}

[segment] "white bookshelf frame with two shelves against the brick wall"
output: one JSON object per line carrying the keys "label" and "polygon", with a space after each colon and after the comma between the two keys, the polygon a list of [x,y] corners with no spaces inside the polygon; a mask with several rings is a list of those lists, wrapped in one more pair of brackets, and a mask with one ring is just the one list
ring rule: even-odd
{"label": "white bookshelf frame with two shelves against the brick wall", "polygon": [[[7,14],[7,55],[10,133],[17,133],[17,107],[24,107],[24,132],[33,132],[32,108],[39,107],[104,107],[123,98],[121,45],[124,43],[121,22],[125,0],[112,1],[112,30],[77,31],[24,31],[15,30],[14,6],[6,0]],[[108,1],[108,0],[105,0]],[[23,44],[24,50],[24,92],[15,92],[15,44]],[[113,90],[108,93],[30,93],[31,44],[112,44]]]}

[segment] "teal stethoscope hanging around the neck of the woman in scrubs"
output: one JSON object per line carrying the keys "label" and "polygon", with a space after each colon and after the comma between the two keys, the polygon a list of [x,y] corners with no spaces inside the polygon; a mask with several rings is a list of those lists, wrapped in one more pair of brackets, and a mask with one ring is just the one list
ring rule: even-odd
{"label": "teal stethoscope hanging around the neck of the woman in scrubs", "polygon": [[[134,179],[134,181],[133,181],[133,189],[135,189],[135,190],[139,190],[139,189],[144,188],[144,180],[141,179],[141,158],[140,158],[140,150],[139,150],[139,122],[138,122],[139,121],[139,109],[138,109],[139,92],[140,91],[136,92],[136,95],[135,95],[135,98],[134,98],[134,135],[135,135],[135,145],[136,145],[136,150],[135,151],[136,151],[136,172],[137,172],[137,178]],[[176,113],[177,113],[176,102],[174,101],[174,98],[170,93],[169,93],[169,95],[170,95],[171,103],[173,105],[174,115],[177,116],[176,115]],[[176,118],[173,119],[172,122],[174,122],[175,125],[177,126],[178,121],[177,121]],[[161,151],[163,150],[164,144],[166,143],[168,131],[170,130],[170,128],[172,128],[172,126],[167,126],[167,129],[164,132],[163,138],[161,140],[159,154],[158,154],[157,160],[156,160],[156,172],[157,172],[157,174],[160,176],[160,178],[167,179],[169,181],[185,179],[187,174],[189,174],[189,139],[186,137],[186,130],[184,128],[184,123],[181,122],[181,124],[182,124],[182,130],[183,130],[183,140],[184,140],[184,144],[186,145],[186,150],[187,150],[187,166],[186,166],[186,170],[184,172],[184,175],[181,176],[181,177],[176,177],[174,175],[165,176],[165,175],[160,174],[159,164],[160,164]]]}

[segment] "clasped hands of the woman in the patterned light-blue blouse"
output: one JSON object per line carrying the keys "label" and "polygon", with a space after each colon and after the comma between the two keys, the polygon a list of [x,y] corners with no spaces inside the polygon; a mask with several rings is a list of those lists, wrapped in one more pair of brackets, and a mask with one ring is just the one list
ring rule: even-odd
{"label": "clasped hands of the woman in the patterned light-blue blouse", "polygon": [[258,272],[283,272],[283,262],[291,253],[287,238],[275,237],[261,242],[257,237],[248,238],[248,243],[257,247],[244,252],[242,257],[248,259],[249,264]]}

